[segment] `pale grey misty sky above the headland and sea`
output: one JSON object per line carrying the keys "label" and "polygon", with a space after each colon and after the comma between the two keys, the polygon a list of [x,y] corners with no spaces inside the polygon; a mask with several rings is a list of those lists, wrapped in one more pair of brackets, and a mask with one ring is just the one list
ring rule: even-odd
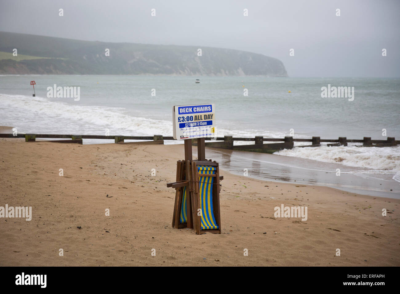
{"label": "pale grey misty sky above the headland and sea", "polygon": [[280,59],[289,76],[400,77],[399,0],[0,0],[0,30],[246,50]]}

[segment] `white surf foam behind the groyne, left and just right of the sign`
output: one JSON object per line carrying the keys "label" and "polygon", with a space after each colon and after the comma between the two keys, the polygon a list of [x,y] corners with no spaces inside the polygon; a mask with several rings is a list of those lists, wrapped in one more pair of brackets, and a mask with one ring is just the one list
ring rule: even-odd
{"label": "white surf foam behind the groyne, left and just right of the sign", "polygon": [[[21,118],[23,113],[23,118]],[[136,117],[125,108],[105,106],[82,106],[44,97],[0,94],[0,116],[2,124],[18,123],[20,132],[51,132],[58,134],[68,131],[75,134],[104,134],[108,128],[111,135],[172,136],[172,122]],[[5,120],[5,121],[4,121]],[[40,121],[39,121],[40,120]],[[36,123],[37,122],[37,123]],[[230,130],[216,128],[216,136],[234,137],[265,136],[283,138],[283,132],[266,130]],[[296,136],[296,138],[306,138]],[[98,142],[98,141],[97,141]],[[170,144],[181,142],[170,141]],[[234,144],[254,144],[254,141],[235,141]]]}

